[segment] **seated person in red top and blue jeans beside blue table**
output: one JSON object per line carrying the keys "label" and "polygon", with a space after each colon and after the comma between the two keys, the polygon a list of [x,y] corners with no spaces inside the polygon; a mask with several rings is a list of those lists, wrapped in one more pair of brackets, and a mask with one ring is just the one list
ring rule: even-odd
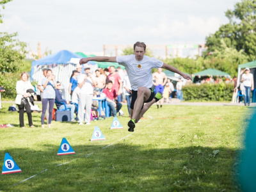
{"label": "seated person in red top and blue jeans beside blue table", "polygon": [[108,81],[107,88],[104,88],[103,93],[106,94],[109,108],[111,109],[113,115],[116,116],[116,113],[118,113],[119,110],[122,108],[122,104],[118,102],[116,90],[113,90],[112,86],[113,86],[113,82]]}

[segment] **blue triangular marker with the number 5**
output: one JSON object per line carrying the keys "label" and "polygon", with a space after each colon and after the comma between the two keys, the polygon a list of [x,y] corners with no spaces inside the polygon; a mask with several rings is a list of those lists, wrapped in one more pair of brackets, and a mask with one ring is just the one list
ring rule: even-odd
{"label": "blue triangular marker with the number 5", "polygon": [[9,153],[5,154],[2,175],[22,172]]}

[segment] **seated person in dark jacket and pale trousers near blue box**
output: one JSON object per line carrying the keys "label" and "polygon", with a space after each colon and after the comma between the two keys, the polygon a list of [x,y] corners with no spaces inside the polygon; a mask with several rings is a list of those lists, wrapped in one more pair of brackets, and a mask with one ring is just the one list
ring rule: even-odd
{"label": "seated person in dark jacket and pale trousers near blue box", "polygon": [[58,109],[65,109],[65,105],[64,104],[60,104],[60,102],[65,102],[67,109],[70,109],[71,122],[76,122],[75,117],[74,117],[76,106],[70,104],[69,101],[67,101],[65,99],[62,99],[62,93],[61,93],[60,88],[61,88],[61,84],[60,84],[59,81],[57,81],[57,89],[55,90],[55,93],[56,93],[55,100],[57,102],[55,102],[55,104],[56,104]]}

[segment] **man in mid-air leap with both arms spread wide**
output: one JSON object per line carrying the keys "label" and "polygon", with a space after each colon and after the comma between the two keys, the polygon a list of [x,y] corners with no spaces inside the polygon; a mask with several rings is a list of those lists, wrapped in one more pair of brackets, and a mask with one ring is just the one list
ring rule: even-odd
{"label": "man in mid-air leap with both arms spread wide", "polygon": [[[191,79],[190,76],[180,72],[175,67],[163,63],[163,61],[156,58],[144,56],[146,52],[146,45],[143,42],[136,42],[133,46],[134,54],[127,56],[116,57],[90,57],[80,60],[80,65],[88,61],[98,62],[117,62],[123,65],[131,82],[132,100],[131,100],[131,120],[128,122],[128,131],[133,132],[135,124],[140,120],[141,116],[158,100],[163,98],[160,92],[156,95],[152,89],[152,68],[165,68],[184,77],[184,79]],[[147,103],[144,105],[144,103]]]}

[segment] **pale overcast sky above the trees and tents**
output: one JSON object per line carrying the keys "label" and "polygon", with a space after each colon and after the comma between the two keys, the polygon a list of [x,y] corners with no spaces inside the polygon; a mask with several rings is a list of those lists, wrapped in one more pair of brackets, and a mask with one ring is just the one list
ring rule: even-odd
{"label": "pale overcast sky above the trees and tents", "polygon": [[1,32],[19,33],[29,48],[100,52],[103,44],[204,44],[237,0],[13,0]]}

